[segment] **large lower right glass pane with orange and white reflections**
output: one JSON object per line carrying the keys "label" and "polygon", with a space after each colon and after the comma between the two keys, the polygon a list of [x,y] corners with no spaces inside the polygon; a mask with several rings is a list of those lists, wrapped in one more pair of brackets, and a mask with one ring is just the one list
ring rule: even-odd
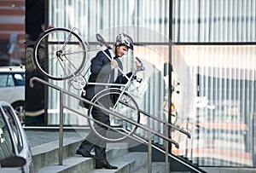
{"label": "large lower right glass pane with orange and white reflections", "polygon": [[182,106],[177,107],[177,117],[193,127],[189,132],[196,137],[184,147],[192,159],[201,156],[200,165],[253,166],[255,49],[255,45],[173,46],[172,66],[182,90],[174,101]]}

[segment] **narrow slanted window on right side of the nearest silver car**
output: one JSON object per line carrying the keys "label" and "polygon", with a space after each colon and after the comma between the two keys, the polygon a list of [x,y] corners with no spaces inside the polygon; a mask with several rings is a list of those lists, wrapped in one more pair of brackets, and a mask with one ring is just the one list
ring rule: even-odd
{"label": "narrow slanted window on right side of the nearest silver car", "polygon": [[15,114],[12,112],[10,107],[3,107],[3,111],[8,116],[9,124],[13,132],[13,136],[15,138],[15,146],[17,146],[18,151],[20,152],[23,147],[23,141],[20,135],[19,126],[17,125],[17,122],[15,121]]}

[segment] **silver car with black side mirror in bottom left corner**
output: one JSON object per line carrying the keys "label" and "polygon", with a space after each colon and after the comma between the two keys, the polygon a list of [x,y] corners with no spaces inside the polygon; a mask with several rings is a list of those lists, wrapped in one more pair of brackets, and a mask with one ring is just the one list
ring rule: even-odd
{"label": "silver car with black side mirror in bottom left corner", "polygon": [[0,101],[0,172],[34,172],[32,152],[15,110]]}

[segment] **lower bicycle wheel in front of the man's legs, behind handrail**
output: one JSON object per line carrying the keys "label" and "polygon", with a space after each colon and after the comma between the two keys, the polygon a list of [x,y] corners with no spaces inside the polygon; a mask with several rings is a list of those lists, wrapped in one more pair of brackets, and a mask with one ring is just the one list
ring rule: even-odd
{"label": "lower bicycle wheel in front of the man's legs, behind handrail", "polygon": [[88,120],[90,129],[103,140],[110,142],[123,141],[127,136],[131,136],[137,130],[137,125],[127,121],[129,119],[132,122],[140,122],[140,112],[137,102],[128,92],[125,91],[121,94],[120,89],[106,89],[97,94],[92,102],[111,112],[122,115],[122,118],[117,118],[112,113],[102,109],[93,106],[89,108],[88,116],[90,118],[95,118],[105,123],[106,120],[108,122],[109,118],[111,128],[97,124],[95,121],[90,120],[90,118]]}

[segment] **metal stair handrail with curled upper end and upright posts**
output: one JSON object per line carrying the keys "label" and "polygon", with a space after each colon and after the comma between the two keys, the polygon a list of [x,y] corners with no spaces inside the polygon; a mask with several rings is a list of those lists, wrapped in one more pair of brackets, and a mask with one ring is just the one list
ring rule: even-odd
{"label": "metal stair handrail with curled upper end and upright posts", "polygon": [[[158,131],[151,130],[150,128],[144,126],[143,124],[138,124],[137,122],[135,122],[135,121],[133,121],[133,120],[131,120],[131,119],[129,119],[129,118],[124,118],[124,117],[122,116],[122,114],[120,114],[119,112],[112,112],[112,111],[108,110],[108,109],[105,108],[105,107],[101,107],[101,106],[96,105],[95,103],[93,103],[93,102],[91,102],[91,101],[85,100],[84,98],[82,98],[82,97],[80,97],[80,96],[78,96],[78,95],[74,95],[73,93],[67,91],[66,89],[62,89],[61,87],[56,86],[55,84],[50,84],[50,83],[44,81],[44,80],[41,79],[41,78],[32,77],[32,78],[30,79],[30,82],[29,82],[29,85],[30,85],[31,87],[34,86],[34,84],[33,84],[34,81],[38,81],[38,82],[41,83],[41,84],[47,85],[47,86],[49,86],[49,87],[51,87],[51,88],[53,88],[53,89],[56,89],[56,90],[59,90],[59,91],[60,91],[60,130],[59,130],[59,164],[60,164],[60,165],[62,165],[62,162],[63,162],[63,155],[62,155],[62,151],[63,151],[63,148],[62,148],[62,147],[63,147],[63,108],[67,108],[67,109],[69,109],[70,111],[79,113],[79,114],[81,115],[80,112],[77,112],[76,110],[73,110],[73,109],[70,108],[70,107],[65,107],[65,106],[63,105],[63,95],[64,95],[64,94],[67,94],[67,95],[72,96],[73,98],[78,99],[79,101],[84,101],[85,103],[90,104],[90,105],[92,105],[93,107],[100,108],[100,109],[102,109],[104,112],[111,113],[111,114],[113,114],[113,116],[115,116],[115,117],[122,118],[122,119],[124,119],[125,121],[127,121],[127,122],[129,122],[129,123],[131,123],[131,124],[134,124],[134,125],[136,125],[137,127],[142,128],[143,130],[147,130],[147,131],[148,131],[148,172],[152,172],[152,134],[154,134],[155,136],[159,136],[160,138],[164,139],[164,140],[166,141],[166,172],[169,172],[169,166],[168,166],[168,155],[169,155],[169,154],[168,154],[168,151],[169,151],[169,148],[168,148],[168,147],[169,147],[169,145],[168,145],[168,141],[169,141],[169,142],[172,142],[172,143],[175,145],[175,147],[179,147],[177,141],[173,141],[172,139],[170,139],[170,138],[168,137],[168,127],[169,127],[169,126],[172,126],[172,127],[173,127],[172,124],[168,124],[168,123],[166,123],[165,121],[162,122],[161,119],[156,118],[156,117],[154,117],[154,116],[149,116],[149,117],[154,118],[154,119],[156,119],[156,120],[160,120],[160,122],[162,122],[162,123],[165,124],[165,126],[166,126],[166,136],[163,136],[163,135],[160,134]],[[143,111],[140,110],[140,112],[143,112]],[[143,112],[143,113],[146,113],[146,112]],[[149,114],[148,114],[148,115],[149,115]],[[83,115],[82,115],[82,116],[83,116]],[[86,117],[86,118],[89,118],[89,117]],[[98,123],[98,124],[102,124],[102,122],[99,122],[99,121],[97,121],[97,120],[94,119],[94,118],[90,118],[90,120],[93,120],[93,121],[95,121],[95,122]],[[108,126],[107,124],[102,124],[102,125],[104,125],[104,126],[106,126],[106,127],[108,127],[108,128],[113,129],[112,127]],[[177,127],[176,127],[176,129],[179,130],[180,132],[182,132],[183,134],[187,135],[187,136],[190,138],[189,132],[186,132],[186,131],[184,131],[184,130],[181,130],[181,129],[177,128]],[[114,130],[114,129],[113,129],[113,130]],[[128,135],[126,135],[126,134],[124,134],[124,135],[125,135],[125,136],[128,136]],[[133,136],[128,136],[128,137],[134,138]]]}

